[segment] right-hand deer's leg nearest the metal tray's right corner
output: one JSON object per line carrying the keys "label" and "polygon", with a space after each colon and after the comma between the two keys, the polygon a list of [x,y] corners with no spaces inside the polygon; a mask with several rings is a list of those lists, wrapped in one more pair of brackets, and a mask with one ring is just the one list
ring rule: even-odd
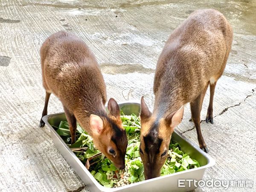
{"label": "right-hand deer's leg nearest the metal tray's right corner", "polygon": [[196,132],[197,132],[197,135],[198,135],[199,147],[203,151],[205,151],[206,153],[208,153],[208,149],[207,149],[207,146],[204,142],[204,137],[203,137],[202,132],[201,132],[200,113],[201,113],[202,104],[203,104],[203,101],[204,101],[204,95],[206,93],[208,84],[209,84],[209,82],[207,83],[207,86],[204,88],[202,93],[193,102],[190,102],[191,119],[195,124]]}

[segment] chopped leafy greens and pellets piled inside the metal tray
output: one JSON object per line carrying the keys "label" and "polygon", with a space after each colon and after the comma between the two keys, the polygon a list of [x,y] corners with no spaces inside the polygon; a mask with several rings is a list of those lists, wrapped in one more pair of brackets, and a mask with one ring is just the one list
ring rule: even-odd
{"label": "chopped leafy greens and pellets piled inside the metal tray", "polygon": [[[135,115],[121,115],[123,128],[128,137],[125,156],[125,170],[117,170],[108,158],[93,144],[92,137],[79,125],[76,131],[76,143],[70,145],[70,130],[66,121],[61,121],[56,132],[69,145],[90,173],[105,187],[119,187],[145,180],[143,164],[140,158],[140,119]],[[54,127],[54,126],[53,126]],[[199,167],[196,160],[180,151],[180,145],[171,140],[168,158],[161,169],[161,176]]]}

